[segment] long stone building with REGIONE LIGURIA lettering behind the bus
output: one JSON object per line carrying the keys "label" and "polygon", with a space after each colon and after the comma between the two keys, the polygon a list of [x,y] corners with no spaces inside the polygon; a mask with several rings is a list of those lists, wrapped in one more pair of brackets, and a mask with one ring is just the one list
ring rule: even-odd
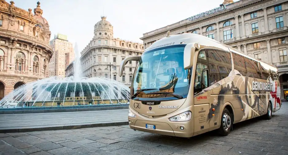
{"label": "long stone building with REGIONE LIGURIA lettering behind the bus", "polygon": [[[205,11],[205,10],[203,10]],[[144,48],[170,34],[197,33],[278,68],[281,98],[288,93],[288,1],[225,0],[219,7],[143,34]]]}

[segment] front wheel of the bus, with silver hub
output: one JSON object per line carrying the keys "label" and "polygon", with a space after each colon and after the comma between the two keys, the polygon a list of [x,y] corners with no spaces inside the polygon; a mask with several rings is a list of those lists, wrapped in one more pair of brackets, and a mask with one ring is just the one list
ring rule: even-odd
{"label": "front wheel of the bus, with silver hub", "polygon": [[232,118],[229,110],[225,108],[222,112],[222,117],[221,117],[221,126],[218,129],[219,134],[222,136],[227,136],[229,135],[232,127]]}

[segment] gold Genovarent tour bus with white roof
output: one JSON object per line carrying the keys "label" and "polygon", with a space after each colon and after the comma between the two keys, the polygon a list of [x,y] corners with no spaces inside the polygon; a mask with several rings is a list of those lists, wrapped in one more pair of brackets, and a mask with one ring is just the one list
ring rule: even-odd
{"label": "gold Genovarent tour bus with white roof", "polygon": [[277,68],[203,35],[169,35],[136,61],[130,87],[131,129],[177,137],[218,130],[281,107]]}

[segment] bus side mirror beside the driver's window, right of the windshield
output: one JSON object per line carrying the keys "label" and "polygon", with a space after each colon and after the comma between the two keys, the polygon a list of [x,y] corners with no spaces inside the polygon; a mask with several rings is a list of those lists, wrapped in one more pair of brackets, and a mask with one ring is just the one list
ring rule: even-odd
{"label": "bus side mirror beside the driver's window, right of the windshield", "polygon": [[184,69],[189,69],[193,66],[194,53],[195,50],[198,50],[200,47],[197,43],[192,42],[185,46],[184,48]]}

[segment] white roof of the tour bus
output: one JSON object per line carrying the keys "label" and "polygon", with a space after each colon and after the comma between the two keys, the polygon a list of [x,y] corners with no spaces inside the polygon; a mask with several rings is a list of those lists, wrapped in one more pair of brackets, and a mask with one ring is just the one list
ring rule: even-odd
{"label": "white roof of the tour bus", "polygon": [[200,45],[214,46],[214,47],[220,48],[220,49],[225,50],[225,51],[231,51],[233,53],[242,55],[242,56],[247,57],[249,59],[252,59],[254,61],[258,61],[261,65],[263,65],[267,68],[270,68],[271,70],[277,72],[277,68],[273,65],[269,65],[263,61],[257,60],[253,57],[250,57],[250,56],[242,53],[238,49],[235,49],[231,46],[228,46],[226,44],[218,42],[214,39],[208,38],[204,35],[198,35],[198,34],[194,34],[194,33],[183,33],[183,34],[178,34],[178,35],[166,36],[166,37],[159,39],[156,42],[154,42],[150,47],[146,48],[144,50],[144,52],[149,51],[149,50],[153,50],[153,49],[157,49],[160,47],[178,45],[178,44],[181,44],[181,42],[182,42],[182,44],[183,44],[183,42],[184,42],[184,44],[195,42],[195,43],[198,43]]}

